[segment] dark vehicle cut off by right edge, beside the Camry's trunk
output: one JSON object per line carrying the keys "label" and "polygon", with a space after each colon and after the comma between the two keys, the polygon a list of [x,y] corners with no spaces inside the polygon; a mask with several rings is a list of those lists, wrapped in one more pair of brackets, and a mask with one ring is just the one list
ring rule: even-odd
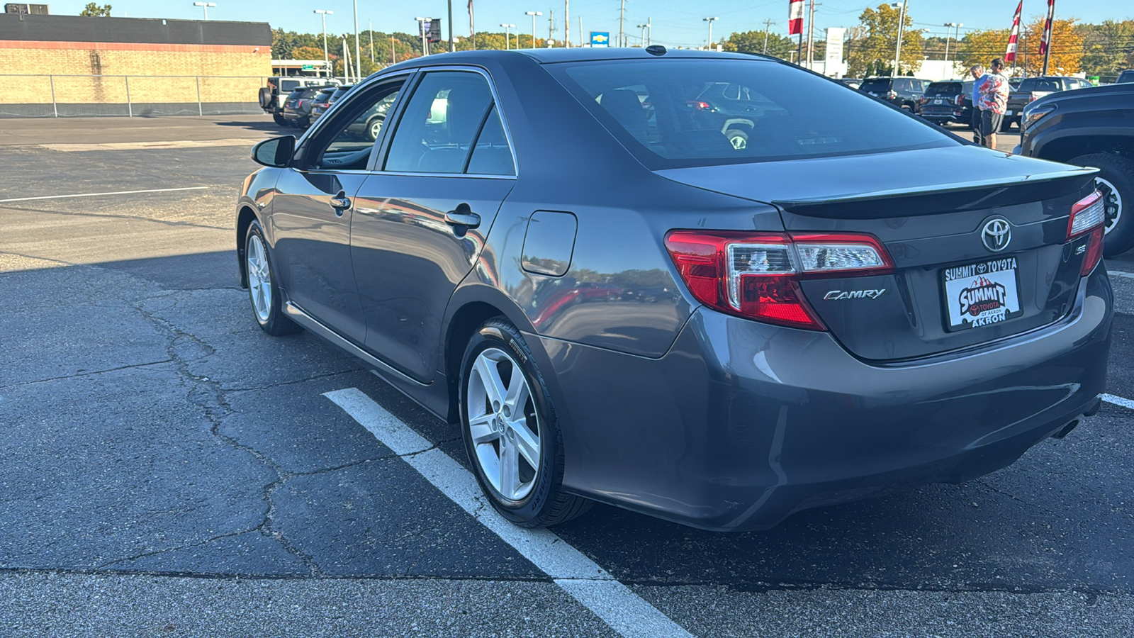
{"label": "dark vehicle cut off by right edge, beside the Camry's trunk", "polygon": [[[1025,81],[1026,82],[1026,81]],[[1018,154],[1099,169],[1105,254],[1134,249],[1134,84],[1053,93],[1024,108]]]}

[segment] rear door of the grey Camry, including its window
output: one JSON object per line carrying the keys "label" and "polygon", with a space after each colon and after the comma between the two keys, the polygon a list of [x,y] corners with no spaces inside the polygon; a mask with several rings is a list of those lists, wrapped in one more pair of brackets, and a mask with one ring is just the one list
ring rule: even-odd
{"label": "rear door of the grey Camry, including its window", "polygon": [[515,160],[482,72],[422,73],[396,117],[355,198],[350,255],[366,349],[428,383],[446,305],[515,184]]}

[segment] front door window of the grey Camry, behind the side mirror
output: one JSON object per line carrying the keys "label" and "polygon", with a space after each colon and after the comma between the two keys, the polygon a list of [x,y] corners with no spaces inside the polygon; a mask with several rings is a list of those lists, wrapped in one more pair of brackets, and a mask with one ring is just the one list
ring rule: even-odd
{"label": "front door window of the grey Camry, behind the side mirror", "polygon": [[365,169],[400,89],[400,83],[386,84],[350,95],[335,120],[316,136],[312,150],[319,149],[319,152],[310,166],[315,169]]}

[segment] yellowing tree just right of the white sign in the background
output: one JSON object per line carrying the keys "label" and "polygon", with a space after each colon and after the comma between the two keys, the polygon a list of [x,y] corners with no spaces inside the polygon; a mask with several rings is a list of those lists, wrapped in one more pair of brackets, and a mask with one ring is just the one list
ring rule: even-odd
{"label": "yellowing tree just right of the white sign in the background", "polygon": [[[858,16],[860,26],[865,37],[856,37],[853,45],[847,45],[847,73],[852,76],[866,76],[871,70],[879,75],[894,73],[894,52],[898,44],[899,10],[889,5],[879,5],[877,9],[868,7]],[[923,39],[920,31],[913,30],[913,18],[905,15],[902,27],[902,59],[898,60],[898,74],[912,74],[921,68]],[[861,33],[861,32],[860,32]]]}

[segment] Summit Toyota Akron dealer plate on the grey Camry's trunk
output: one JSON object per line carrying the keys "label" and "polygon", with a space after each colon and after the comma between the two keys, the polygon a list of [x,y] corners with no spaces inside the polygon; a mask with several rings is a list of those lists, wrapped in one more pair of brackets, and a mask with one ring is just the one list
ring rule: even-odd
{"label": "Summit Toyota Akron dealer plate on the grey Camry's trunk", "polygon": [[990,326],[1022,314],[1016,258],[1005,257],[941,271],[946,319],[950,330]]}

